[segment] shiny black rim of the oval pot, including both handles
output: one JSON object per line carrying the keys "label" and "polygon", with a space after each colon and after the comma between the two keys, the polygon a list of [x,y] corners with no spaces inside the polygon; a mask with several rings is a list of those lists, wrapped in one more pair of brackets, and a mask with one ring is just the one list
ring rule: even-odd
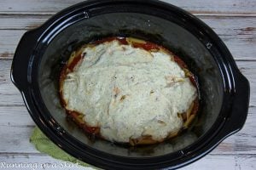
{"label": "shiny black rim of the oval pot, including both handles", "polygon": [[[108,9],[106,9],[108,7]],[[130,7],[129,10],[124,7]],[[135,11],[132,11],[132,8]],[[38,72],[34,71],[39,65],[36,56],[40,53],[38,48],[40,43],[48,43],[52,37],[58,33],[56,28],[70,26],[78,20],[86,20],[97,14],[111,12],[137,12],[138,7],[154,8],[157,13],[162,14],[162,18],[169,20],[172,13],[176,13],[185,21],[187,25],[193,25],[203,34],[201,42],[209,49],[218,50],[220,57],[215,58],[218,67],[222,72],[224,80],[224,101],[217,121],[211,129],[203,135],[194,144],[189,145],[183,150],[178,150],[172,154],[155,157],[124,157],[115,156],[100,150],[90,148],[89,146],[74,139],[59,125],[48,112],[44,105],[43,99],[39,93]],[[104,8],[104,10],[102,10]],[[113,10],[113,11],[112,11]],[[153,14],[152,14],[153,15]],[[157,15],[154,13],[154,15]],[[160,17],[160,16],[158,16]],[[181,23],[177,23],[180,26]],[[185,27],[185,26],[183,26]],[[186,28],[186,27],[185,27]],[[186,28],[187,29],[187,28]],[[191,32],[191,30],[189,30]],[[193,30],[192,30],[193,31]],[[26,38],[25,38],[26,37]],[[26,47],[26,42],[31,40],[31,48]],[[34,42],[34,44],[32,43]],[[211,47],[209,46],[211,45]],[[20,52],[20,49],[26,48],[26,54]],[[27,59],[20,59],[20,55],[26,55]],[[23,66],[18,66],[23,65]],[[20,75],[24,72],[24,75]],[[51,139],[55,144],[67,151],[72,156],[82,161],[88,162],[96,167],[107,169],[154,169],[154,168],[177,168],[193,162],[214,149],[223,139],[232,133],[236,133],[243,126],[247,117],[249,84],[247,79],[238,71],[236,63],[232,58],[229,50],[225,47],[224,42],[212,31],[212,29],[198,20],[194,15],[189,14],[183,9],[177,8],[168,3],[159,1],[139,1],[139,0],[104,0],[104,1],[87,1],[78,3],[70,8],[62,10],[55,14],[43,26],[33,31],[28,31],[20,40],[19,46],[15,52],[15,58],[11,70],[11,79],[16,87],[20,89],[22,97],[26,103],[27,110],[30,112],[32,119],[38,127]],[[236,108],[240,105],[240,108]],[[234,109],[236,108],[236,110]],[[240,122],[237,122],[239,117]]]}

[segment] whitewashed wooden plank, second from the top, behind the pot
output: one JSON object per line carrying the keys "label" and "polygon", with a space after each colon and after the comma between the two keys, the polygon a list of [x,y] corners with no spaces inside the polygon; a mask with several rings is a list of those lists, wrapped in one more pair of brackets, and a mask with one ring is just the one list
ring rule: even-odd
{"label": "whitewashed wooden plank, second from the top, behind the pot", "polygon": [[[2,15],[0,17],[0,59],[12,59],[20,37],[38,27],[49,15]],[[230,49],[235,59],[256,60],[256,17],[201,16]]]}

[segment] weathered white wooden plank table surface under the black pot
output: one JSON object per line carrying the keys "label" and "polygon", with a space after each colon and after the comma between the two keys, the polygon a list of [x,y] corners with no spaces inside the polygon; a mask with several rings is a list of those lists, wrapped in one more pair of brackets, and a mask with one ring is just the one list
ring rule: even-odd
{"label": "weathered white wooden plank table surface under the black pot", "polygon": [[[34,169],[60,169],[55,166],[63,163],[39,153],[29,143],[35,123],[26,111],[19,91],[10,82],[9,71],[16,45],[25,31],[40,26],[62,8],[79,2],[0,0],[0,169],[33,169],[3,166],[8,163],[37,165]],[[236,64],[251,85],[249,113],[242,130],[183,169],[256,169],[256,0],[166,2],[188,10],[211,26],[230,48]]]}

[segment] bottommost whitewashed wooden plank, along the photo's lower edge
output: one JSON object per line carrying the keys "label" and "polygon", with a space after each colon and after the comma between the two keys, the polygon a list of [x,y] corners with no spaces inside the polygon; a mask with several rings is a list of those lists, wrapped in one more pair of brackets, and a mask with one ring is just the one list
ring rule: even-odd
{"label": "bottommost whitewashed wooden plank, along the photo's lower edge", "polygon": [[[24,163],[28,166],[34,166],[37,170],[54,170],[54,169],[62,169],[65,161],[60,161],[51,158],[50,156],[46,156],[44,154],[36,154],[36,155],[22,155],[22,154],[7,154],[0,155],[0,166],[2,164],[19,164]],[[254,170],[256,168],[256,156],[255,155],[207,155],[202,159],[195,161],[192,164],[189,164],[186,167],[182,167],[182,170],[198,170],[198,169],[207,169],[207,170],[216,170],[216,168],[220,169],[247,169]],[[67,163],[67,162],[66,162]],[[72,165],[72,164],[70,164]],[[212,166],[215,165],[215,166]],[[50,167],[51,166],[51,167]],[[73,168],[65,168],[65,169],[74,169],[74,170],[93,170],[93,167],[75,167]],[[45,167],[45,168],[44,168]],[[1,167],[0,167],[1,168]],[[11,168],[13,170],[20,170],[20,168]],[[28,168],[27,168],[28,169]],[[32,168],[30,168],[32,169]],[[165,170],[167,170],[166,168]]]}

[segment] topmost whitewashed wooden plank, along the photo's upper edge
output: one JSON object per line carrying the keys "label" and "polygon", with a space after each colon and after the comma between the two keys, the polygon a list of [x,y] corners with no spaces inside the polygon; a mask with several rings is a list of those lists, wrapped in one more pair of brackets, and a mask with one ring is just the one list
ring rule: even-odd
{"label": "topmost whitewashed wooden plank, along the photo's upper edge", "polygon": [[[256,14],[255,0],[163,0],[193,14]],[[2,0],[0,1],[0,14],[55,14],[81,0]]]}

